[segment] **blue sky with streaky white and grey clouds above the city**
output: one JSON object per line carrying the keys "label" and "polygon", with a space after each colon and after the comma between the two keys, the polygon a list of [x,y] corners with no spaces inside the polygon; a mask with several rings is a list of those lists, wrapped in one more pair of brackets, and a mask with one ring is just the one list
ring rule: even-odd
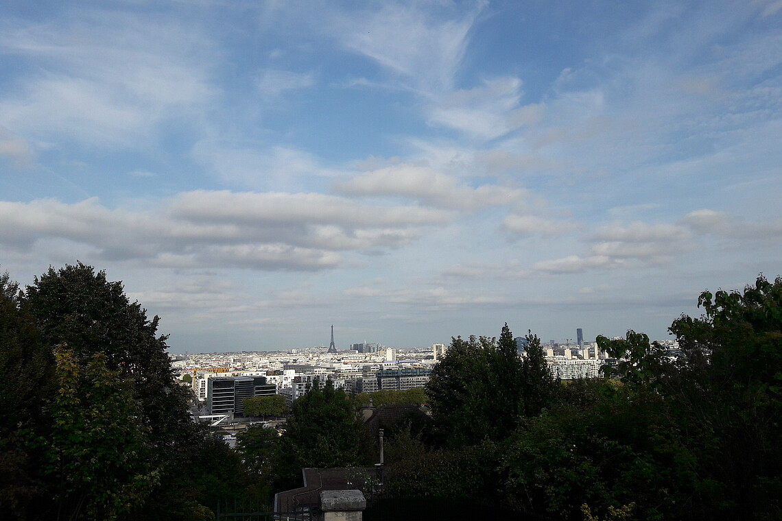
{"label": "blue sky with streaky white and grey clouds above the city", "polygon": [[782,2],[0,6],[0,271],[172,352],[668,338],[782,273]]}

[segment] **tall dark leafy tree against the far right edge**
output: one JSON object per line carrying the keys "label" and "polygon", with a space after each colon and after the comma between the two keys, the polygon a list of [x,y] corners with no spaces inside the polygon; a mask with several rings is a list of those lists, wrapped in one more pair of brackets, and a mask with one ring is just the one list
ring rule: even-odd
{"label": "tall dark leafy tree against the far right edge", "polygon": [[716,515],[719,498],[723,515],[779,518],[782,278],[759,275],[741,292],[704,291],[698,307],[703,316],[680,316],[669,328],[684,358],[667,392],[700,455],[698,472],[716,484],[701,502],[704,516]]}

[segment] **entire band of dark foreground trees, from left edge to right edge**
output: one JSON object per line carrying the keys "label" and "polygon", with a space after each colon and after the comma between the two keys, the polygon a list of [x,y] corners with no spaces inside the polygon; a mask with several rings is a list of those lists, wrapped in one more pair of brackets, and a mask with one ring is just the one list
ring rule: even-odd
{"label": "entire band of dark foreground trees, from left edge to right edge", "polygon": [[[507,325],[455,337],[424,390],[371,395],[431,412],[386,429],[382,494],[532,519],[782,518],[782,279],[698,305],[669,328],[680,358],[598,337],[620,362],[592,380],[554,380],[531,332],[522,359]],[[330,382],[285,434],[255,427],[232,451],[189,419],[157,326],[89,266],[23,290],[0,276],[2,519],[213,519],[218,500],[300,487],[303,467],[377,462],[370,397]]]}

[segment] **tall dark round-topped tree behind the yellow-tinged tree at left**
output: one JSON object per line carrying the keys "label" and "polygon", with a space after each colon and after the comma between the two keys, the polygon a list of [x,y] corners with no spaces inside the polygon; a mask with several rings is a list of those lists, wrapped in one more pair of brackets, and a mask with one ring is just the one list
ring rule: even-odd
{"label": "tall dark round-topped tree behind the yellow-tinged tree at left", "polygon": [[[138,451],[137,456],[146,458],[149,475],[160,477],[160,485],[145,501],[135,501],[134,511],[127,516],[200,516],[203,505],[211,505],[210,492],[218,490],[203,486],[203,482],[240,486],[239,473],[230,474],[237,476],[236,482],[232,477],[217,476],[225,467],[207,466],[199,475],[182,473],[183,468],[193,466],[188,458],[203,459],[211,439],[190,419],[187,402],[192,393],[174,380],[167,337],[157,334],[158,317],[148,319],[138,302],[130,302],[120,282],[106,280],[106,273],[81,262],[50,268],[27,287],[23,305],[34,316],[41,343],[49,350],[66,346],[82,372],[94,362],[94,355],[101,355],[106,370],[118,371],[120,380],[127,382],[137,408],[130,419],[117,421],[143,427],[146,450]],[[99,431],[94,434],[99,437]],[[69,494],[68,498],[75,497]]]}

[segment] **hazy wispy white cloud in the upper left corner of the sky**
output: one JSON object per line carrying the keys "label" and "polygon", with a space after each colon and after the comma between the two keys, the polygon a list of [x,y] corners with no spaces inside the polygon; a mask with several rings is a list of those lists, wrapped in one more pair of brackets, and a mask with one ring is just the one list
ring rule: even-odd
{"label": "hazy wispy white cloud in the upper left corner of the sky", "polygon": [[52,23],[16,23],[0,49],[35,65],[0,101],[0,123],[41,141],[136,146],[213,95],[206,38],[150,16],[81,9]]}

